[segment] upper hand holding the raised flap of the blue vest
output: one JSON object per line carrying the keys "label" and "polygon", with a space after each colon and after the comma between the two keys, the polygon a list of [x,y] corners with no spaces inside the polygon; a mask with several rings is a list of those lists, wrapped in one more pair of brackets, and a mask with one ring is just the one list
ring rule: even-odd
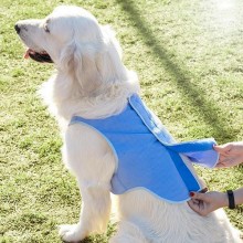
{"label": "upper hand holding the raised flap of the blue vest", "polygon": [[214,146],[214,149],[220,154],[218,168],[233,167],[243,162],[243,141]]}

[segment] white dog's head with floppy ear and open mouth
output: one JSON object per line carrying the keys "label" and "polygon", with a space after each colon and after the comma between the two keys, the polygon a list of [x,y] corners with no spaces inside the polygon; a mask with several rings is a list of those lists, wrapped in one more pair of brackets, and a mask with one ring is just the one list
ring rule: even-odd
{"label": "white dog's head with floppy ear and open mouth", "polygon": [[126,80],[115,34],[82,8],[61,6],[44,19],[18,21],[15,30],[28,46],[25,57],[55,63],[87,89]]}

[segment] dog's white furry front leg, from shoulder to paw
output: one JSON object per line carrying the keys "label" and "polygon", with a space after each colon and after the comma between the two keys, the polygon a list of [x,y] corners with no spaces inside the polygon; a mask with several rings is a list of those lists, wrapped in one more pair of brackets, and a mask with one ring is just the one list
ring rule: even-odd
{"label": "dog's white furry front leg, from shoulder to paw", "polygon": [[106,230],[110,212],[110,179],[115,170],[112,149],[101,135],[81,125],[66,133],[63,157],[77,178],[82,210],[77,224],[61,225],[65,242],[78,242]]}

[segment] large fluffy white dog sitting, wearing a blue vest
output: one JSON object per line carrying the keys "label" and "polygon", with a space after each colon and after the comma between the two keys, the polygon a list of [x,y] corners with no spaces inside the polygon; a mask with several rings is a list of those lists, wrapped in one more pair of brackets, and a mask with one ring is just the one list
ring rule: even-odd
{"label": "large fluffy white dog sitting, wearing a blue vest", "polygon": [[[104,118],[119,114],[127,97],[139,93],[139,84],[136,74],[124,66],[114,33],[84,9],[59,7],[45,19],[19,21],[15,30],[28,46],[25,57],[53,62],[57,70],[41,93],[60,124],[63,159],[82,193],[80,221],[60,226],[64,241],[77,242],[106,230],[115,156],[94,129],[68,123],[73,115]],[[187,203],[170,204],[142,189],[118,196],[117,201],[119,223],[110,242],[240,242],[223,211],[203,218]]]}

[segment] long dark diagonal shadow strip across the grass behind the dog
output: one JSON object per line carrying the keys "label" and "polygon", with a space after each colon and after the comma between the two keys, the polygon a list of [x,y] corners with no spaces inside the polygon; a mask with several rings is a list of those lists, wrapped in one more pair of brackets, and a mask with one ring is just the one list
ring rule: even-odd
{"label": "long dark diagonal shadow strip across the grass behind the dog", "polygon": [[135,23],[139,33],[142,36],[144,43],[149,46],[152,54],[159,57],[160,62],[172,77],[178,89],[188,98],[191,106],[199,107],[198,110],[203,118],[204,123],[212,127],[212,136],[219,140],[234,140],[234,130],[230,127],[218,114],[221,112],[220,107],[215,106],[212,101],[209,99],[209,94],[203,89],[198,89],[191,82],[190,76],[183,71],[179,64],[171,61],[170,56],[173,53],[169,53],[165,47],[159,44],[159,40],[149,29],[146,20],[141,18],[140,12],[135,8],[133,1],[116,0],[127,13],[129,20]]}

